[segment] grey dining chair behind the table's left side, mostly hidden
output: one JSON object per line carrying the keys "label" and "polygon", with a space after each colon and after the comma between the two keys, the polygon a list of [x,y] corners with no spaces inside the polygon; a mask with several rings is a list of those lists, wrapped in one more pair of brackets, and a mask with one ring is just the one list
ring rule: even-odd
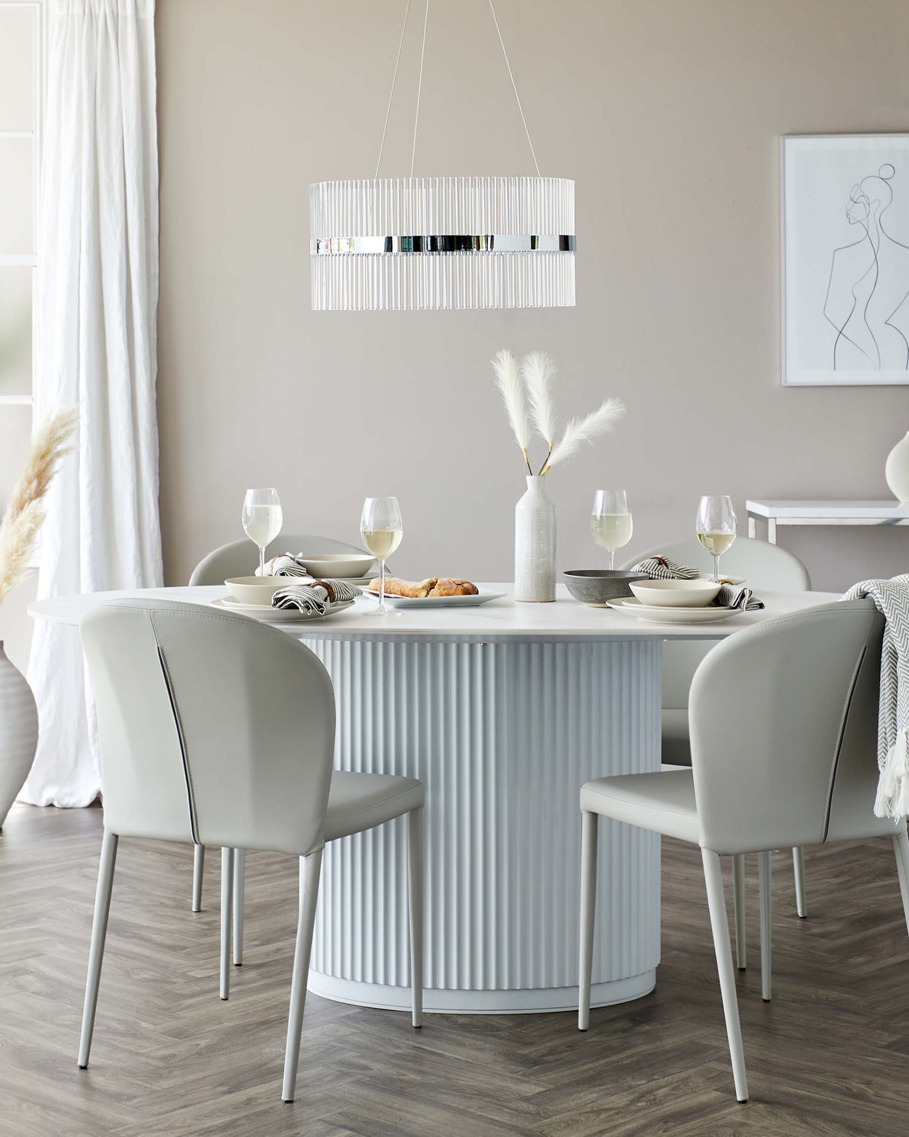
{"label": "grey dining chair behind the table's left side, mostly hidden", "polygon": [[[336,541],[333,537],[318,537],[315,533],[278,533],[265,550],[266,559],[277,556],[280,553],[302,553],[317,556],[319,553],[357,553],[362,555],[362,548],[356,545],[345,545],[344,541]],[[259,567],[259,550],[248,538],[240,541],[228,541],[206,556],[193,568],[190,576],[190,587],[195,584],[223,584],[231,576],[252,576]],[[234,904],[237,915],[243,908],[243,881],[245,877],[244,860],[245,850],[236,849],[235,853],[235,878]],[[202,879],[206,865],[206,847],[197,845],[193,849],[192,866],[192,911],[202,911]],[[234,928],[234,963],[243,962],[243,921],[237,919]]]}

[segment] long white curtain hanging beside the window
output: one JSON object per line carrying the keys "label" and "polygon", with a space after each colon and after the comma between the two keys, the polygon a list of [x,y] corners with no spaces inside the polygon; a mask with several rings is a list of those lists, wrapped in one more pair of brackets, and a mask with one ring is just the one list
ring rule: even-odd
{"label": "long white curtain hanging beside the window", "polygon": [[[155,0],[49,0],[39,230],[36,421],[81,407],[51,490],[39,597],[161,583]],[[78,629],[36,621],[37,755],[20,797],[101,787]]]}

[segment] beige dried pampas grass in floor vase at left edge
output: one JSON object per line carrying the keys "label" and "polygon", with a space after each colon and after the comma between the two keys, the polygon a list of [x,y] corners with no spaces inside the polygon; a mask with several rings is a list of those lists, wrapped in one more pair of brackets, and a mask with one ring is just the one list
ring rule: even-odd
{"label": "beige dried pampas grass in floor vase at left edge", "polygon": [[77,423],[78,409],[66,407],[52,415],[32,439],[25,470],[0,524],[0,600],[20,582],[28,567],[35,537],[44,523],[41,503],[60,458],[73,449],[69,439]]}

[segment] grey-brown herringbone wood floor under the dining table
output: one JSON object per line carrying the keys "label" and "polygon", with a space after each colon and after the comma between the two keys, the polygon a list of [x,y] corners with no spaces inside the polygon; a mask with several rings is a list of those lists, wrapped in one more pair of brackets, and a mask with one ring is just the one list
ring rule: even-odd
{"label": "grey-brown herringbone wood floor under the dining table", "polygon": [[[809,919],[774,869],[774,1002],[757,865],[739,979],[751,1102],[736,1105],[697,848],[664,844],[648,998],[570,1014],[430,1015],[307,1003],[280,1101],[297,903],[290,857],[248,858],[244,965],[218,999],[218,863],[189,911],[189,847],[123,840],[87,1071],[76,1044],[101,811],[17,806],[0,836],[0,1134],[117,1137],[904,1135],[909,939],[890,841],[809,850]],[[727,893],[729,882],[727,878]]]}

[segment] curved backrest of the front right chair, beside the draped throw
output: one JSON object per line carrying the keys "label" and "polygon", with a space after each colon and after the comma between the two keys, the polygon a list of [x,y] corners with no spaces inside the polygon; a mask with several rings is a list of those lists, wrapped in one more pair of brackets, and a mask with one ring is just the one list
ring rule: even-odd
{"label": "curved backrest of the front right chair, beside the draped throw", "polygon": [[707,656],[689,705],[706,848],[898,831],[874,815],[883,630],[872,600],[839,601],[745,629]]}

